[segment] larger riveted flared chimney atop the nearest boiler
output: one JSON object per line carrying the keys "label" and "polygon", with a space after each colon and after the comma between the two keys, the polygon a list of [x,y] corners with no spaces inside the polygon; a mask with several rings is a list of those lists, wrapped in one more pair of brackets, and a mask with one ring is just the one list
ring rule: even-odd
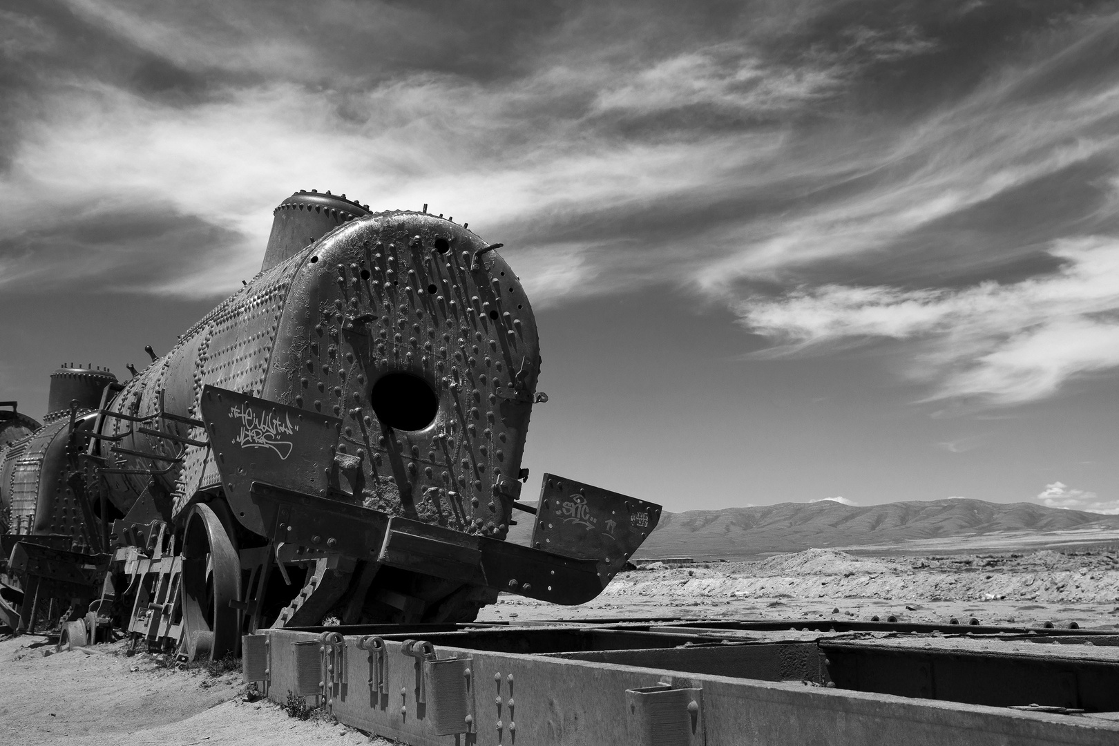
{"label": "larger riveted flared chimney atop the nearest boiler", "polygon": [[309,244],[354,218],[369,214],[368,205],[346,199],[346,195],[320,195],[300,189],[272,211],[272,235],[264,249],[261,272],[294,256]]}

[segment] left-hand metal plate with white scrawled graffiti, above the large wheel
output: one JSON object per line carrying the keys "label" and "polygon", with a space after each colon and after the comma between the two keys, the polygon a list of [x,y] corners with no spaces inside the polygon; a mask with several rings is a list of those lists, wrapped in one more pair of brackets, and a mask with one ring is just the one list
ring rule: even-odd
{"label": "left-hand metal plate with white scrawled graffiti, above the large wheel", "polygon": [[203,388],[200,405],[226,498],[247,528],[271,526],[253,482],[327,495],[341,419],[216,386]]}

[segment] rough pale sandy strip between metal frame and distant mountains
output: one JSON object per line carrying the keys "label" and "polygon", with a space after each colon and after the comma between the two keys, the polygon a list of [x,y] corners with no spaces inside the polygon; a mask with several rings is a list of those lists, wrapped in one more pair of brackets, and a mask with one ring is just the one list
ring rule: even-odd
{"label": "rough pale sandy strip between metal frame and distant mountains", "polygon": [[605,617],[846,618],[1119,627],[1119,559],[1103,551],[856,557],[809,549],[755,563],[622,573],[598,598],[556,606],[502,595],[479,621]]}

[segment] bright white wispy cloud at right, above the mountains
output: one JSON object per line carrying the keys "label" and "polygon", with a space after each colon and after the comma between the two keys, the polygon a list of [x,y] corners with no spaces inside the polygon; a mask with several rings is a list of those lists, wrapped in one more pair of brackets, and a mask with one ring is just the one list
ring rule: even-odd
{"label": "bright white wispy cloud at right, above the mountains", "polygon": [[995,404],[1041,398],[1065,380],[1119,366],[1119,240],[1051,251],[1064,266],[1017,283],[902,291],[824,285],[741,306],[743,323],[782,342],[771,353],[869,338],[918,340],[909,372],[930,398]]}

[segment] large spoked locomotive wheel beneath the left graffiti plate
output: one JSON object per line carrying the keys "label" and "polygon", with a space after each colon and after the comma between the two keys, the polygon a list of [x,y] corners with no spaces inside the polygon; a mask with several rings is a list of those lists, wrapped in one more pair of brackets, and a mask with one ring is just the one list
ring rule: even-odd
{"label": "large spoked locomotive wheel beneath the left graffiti plate", "polygon": [[225,525],[210,506],[187,514],[182,537],[181,650],[190,660],[219,660],[236,654],[241,612],[241,559]]}

